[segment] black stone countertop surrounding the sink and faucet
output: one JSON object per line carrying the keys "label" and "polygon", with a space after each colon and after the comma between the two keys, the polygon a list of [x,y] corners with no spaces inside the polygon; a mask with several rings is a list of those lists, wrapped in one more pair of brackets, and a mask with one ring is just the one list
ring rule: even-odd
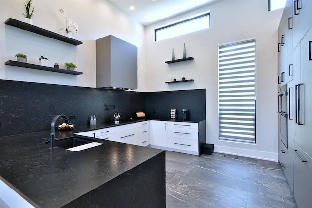
{"label": "black stone countertop surrounding the sink and faucet", "polygon": [[[71,131],[56,131],[56,137],[109,126],[78,126]],[[49,134],[44,131],[0,137],[0,178],[34,207],[64,206],[163,152],[100,139],[95,140],[103,145],[77,152],[38,145],[39,139]]]}

